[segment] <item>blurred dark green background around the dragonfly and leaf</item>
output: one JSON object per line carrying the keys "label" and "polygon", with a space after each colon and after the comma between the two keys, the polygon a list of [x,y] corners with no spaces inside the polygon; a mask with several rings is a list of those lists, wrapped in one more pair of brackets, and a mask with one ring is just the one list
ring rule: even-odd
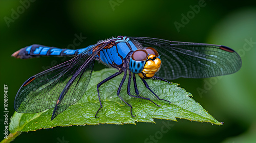
{"label": "blurred dark green background around the dragonfly and leaf", "polygon": [[[11,57],[20,48],[35,43],[78,49],[118,35],[154,37],[226,45],[236,50],[243,62],[236,74],[172,81],[192,93],[195,101],[212,116],[225,122],[224,126],[178,119],[170,122],[174,126],[155,140],[150,136],[161,131],[163,120],[155,120],[156,124],[56,127],[24,132],[14,142],[63,142],[63,139],[69,142],[256,142],[255,4],[255,1],[0,1],[1,90],[4,84],[8,85],[9,117],[14,112],[16,93],[28,78],[70,59]],[[182,19],[183,14],[188,14],[188,20]],[[177,28],[175,21],[181,27]],[[75,35],[80,34],[87,38],[74,45]],[[96,64],[94,70],[102,68]],[[2,113],[3,96],[2,92]],[[2,116],[1,134],[3,119]]]}

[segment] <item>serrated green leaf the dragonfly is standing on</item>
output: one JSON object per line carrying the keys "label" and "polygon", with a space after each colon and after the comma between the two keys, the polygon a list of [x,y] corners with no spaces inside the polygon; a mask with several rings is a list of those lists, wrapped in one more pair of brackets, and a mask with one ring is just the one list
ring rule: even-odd
{"label": "serrated green leaf the dragonfly is standing on", "polygon": [[[56,126],[72,125],[96,125],[96,124],[136,124],[136,122],[155,123],[153,118],[177,121],[176,118],[185,118],[190,121],[209,122],[221,125],[202,106],[191,99],[192,95],[178,84],[168,84],[163,81],[147,80],[153,90],[160,98],[168,100],[171,104],[157,100],[154,95],[144,87],[142,81],[137,77],[137,86],[143,96],[150,97],[156,106],[147,100],[138,100],[131,98],[126,93],[127,79],[122,88],[121,97],[133,106],[131,116],[130,107],[125,105],[117,96],[117,88],[122,79],[122,75],[112,79],[107,84],[100,87],[101,100],[103,108],[98,112],[98,118],[95,113],[99,109],[99,100],[96,85],[103,79],[117,72],[116,69],[106,68],[100,71],[94,71],[91,81],[88,85],[86,94],[74,105],[60,113],[51,121],[53,109],[48,109],[39,113],[17,113],[11,118],[9,130],[11,133],[16,131],[34,131],[41,128],[53,128]],[[132,82],[133,83],[133,82]],[[134,86],[131,85],[133,93]]]}

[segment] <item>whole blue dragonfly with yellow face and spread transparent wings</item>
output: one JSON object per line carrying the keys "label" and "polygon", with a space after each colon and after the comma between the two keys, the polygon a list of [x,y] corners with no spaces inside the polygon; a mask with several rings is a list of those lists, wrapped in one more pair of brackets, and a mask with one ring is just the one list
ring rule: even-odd
{"label": "whole blue dragonfly with yellow face and spread transparent wings", "polygon": [[[95,61],[116,68],[118,71],[97,84],[99,109],[102,106],[99,87],[124,73],[117,89],[117,96],[128,74],[127,94],[133,98],[148,100],[140,96],[136,75],[154,96],[159,98],[146,80],[156,79],[167,82],[177,78],[209,78],[236,73],[242,65],[237,52],[224,45],[178,42],[147,37],[118,36],[100,40],[83,49],[59,49],[57,47],[32,44],[12,54],[15,58],[29,59],[41,56],[73,56],[69,61],[49,68],[29,78],[18,90],[14,108],[19,113],[37,113],[54,108],[51,120],[75,104],[86,93]],[[161,68],[161,69],[160,69]],[[133,79],[135,93],[131,94]],[[54,87],[54,88],[53,88]],[[52,89],[52,90],[51,90]]]}

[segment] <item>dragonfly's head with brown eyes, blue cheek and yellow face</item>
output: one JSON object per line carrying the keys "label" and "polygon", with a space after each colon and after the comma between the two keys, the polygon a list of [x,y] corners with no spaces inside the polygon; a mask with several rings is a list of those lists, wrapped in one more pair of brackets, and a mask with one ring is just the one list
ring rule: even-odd
{"label": "dragonfly's head with brown eyes, blue cheek and yellow face", "polygon": [[143,79],[152,78],[160,69],[160,66],[160,56],[153,47],[134,51],[129,62],[129,69]]}

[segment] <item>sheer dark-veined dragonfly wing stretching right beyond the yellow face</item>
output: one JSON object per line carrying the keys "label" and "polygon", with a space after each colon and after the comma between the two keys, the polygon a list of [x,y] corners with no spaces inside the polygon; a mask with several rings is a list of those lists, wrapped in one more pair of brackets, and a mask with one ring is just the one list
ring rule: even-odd
{"label": "sheer dark-veined dragonfly wing stretching right beyond the yellow face", "polygon": [[161,58],[156,76],[164,79],[208,78],[232,74],[241,68],[237,52],[223,45],[129,37],[143,46],[154,47]]}

